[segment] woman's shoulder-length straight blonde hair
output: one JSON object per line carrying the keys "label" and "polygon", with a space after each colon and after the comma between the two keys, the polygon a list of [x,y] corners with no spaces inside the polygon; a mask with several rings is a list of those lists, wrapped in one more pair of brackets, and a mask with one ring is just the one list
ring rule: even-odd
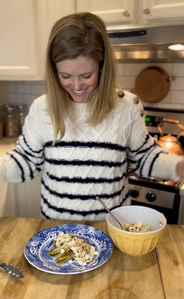
{"label": "woman's shoulder-length straight blonde hair", "polygon": [[99,63],[99,82],[88,98],[88,125],[102,122],[117,104],[115,62],[105,24],[92,13],[65,16],[53,26],[46,58],[47,111],[54,126],[54,142],[65,135],[65,116],[70,108],[68,92],[59,83],[56,62],[89,57]]}

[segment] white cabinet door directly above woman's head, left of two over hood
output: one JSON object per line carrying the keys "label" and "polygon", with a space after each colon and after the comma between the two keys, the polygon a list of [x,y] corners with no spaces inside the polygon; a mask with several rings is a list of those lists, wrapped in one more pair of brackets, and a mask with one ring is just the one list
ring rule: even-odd
{"label": "white cabinet door directly above woman's head, left of two over hood", "polygon": [[76,12],[89,11],[101,17],[106,24],[132,22],[135,0],[76,0]]}

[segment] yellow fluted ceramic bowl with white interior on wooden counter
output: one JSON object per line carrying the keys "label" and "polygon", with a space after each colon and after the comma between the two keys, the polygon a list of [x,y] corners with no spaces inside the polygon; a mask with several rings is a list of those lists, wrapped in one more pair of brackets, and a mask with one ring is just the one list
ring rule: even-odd
{"label": "yellow fluted ceramic bowl with white interior on wooden counter", "polygon": [[[107,227],[114,244],[125,254],[141,256],[151,252],[162,239],[167,220],[163,214],[157,210],[143,206],[124,206],[111,210],[119,222],[138,223],[141,221],[143,227],[150,226],[151,232],[133,233],[124,231],[119,224],[108,213],[106,217]],[[160,228],[160,220],[162,227]]]}

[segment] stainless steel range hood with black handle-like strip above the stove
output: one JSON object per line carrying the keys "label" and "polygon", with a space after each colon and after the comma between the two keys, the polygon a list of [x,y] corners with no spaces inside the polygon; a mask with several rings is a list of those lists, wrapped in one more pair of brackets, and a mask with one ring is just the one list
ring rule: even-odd
{"label": "stainless steel range hood with black handle-like strip above the stove", "polygon": [[119,62],[184,61],[184,50],[168,48],[184,45],[184,25],[173,26],[108,26],[107,32]]}

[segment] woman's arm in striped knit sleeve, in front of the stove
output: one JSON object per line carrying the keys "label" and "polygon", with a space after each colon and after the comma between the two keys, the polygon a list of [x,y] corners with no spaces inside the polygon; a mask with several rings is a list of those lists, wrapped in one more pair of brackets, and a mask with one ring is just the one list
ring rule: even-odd
{"label": "woman's arm in striped knit sleeve, in front of the stove", "polygon": [[130,166],[139,176],[178,181],[181,176],[184,177],[183,157],[160,147],[147,132],[144,118],[136,110],[131,112],[131,123],[126,129]]}

